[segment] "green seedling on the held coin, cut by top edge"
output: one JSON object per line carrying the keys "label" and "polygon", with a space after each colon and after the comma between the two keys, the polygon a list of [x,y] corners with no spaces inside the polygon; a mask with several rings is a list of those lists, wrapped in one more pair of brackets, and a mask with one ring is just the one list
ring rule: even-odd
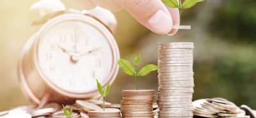
{"label": "green seedling on the held coin, cut by top edge", "polygon": [[179,0],[179,3],[177,0],[163,0],[163,3],[169,6],[170,8],[178,8],[179,14],[180,14],[180,24],[181,24],[181,13],[182,9],[188,9],[194,6],[196,3],[202,2],[205,0],[184,0],[184,2],[181,4],[181,0]]}

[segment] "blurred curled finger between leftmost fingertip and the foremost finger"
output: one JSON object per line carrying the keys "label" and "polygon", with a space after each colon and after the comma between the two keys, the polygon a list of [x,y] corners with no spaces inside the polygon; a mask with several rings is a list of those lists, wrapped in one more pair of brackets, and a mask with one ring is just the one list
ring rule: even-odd
{"label": "blurred curled finger between leftmost fingertip and the foremost finger", "polygon": [[120,6],[114,0],[91,0],[91,1],[95,5],[100,6],[102,8],[106,8],[110,11],[118,11],[122,9],[122,6]]}

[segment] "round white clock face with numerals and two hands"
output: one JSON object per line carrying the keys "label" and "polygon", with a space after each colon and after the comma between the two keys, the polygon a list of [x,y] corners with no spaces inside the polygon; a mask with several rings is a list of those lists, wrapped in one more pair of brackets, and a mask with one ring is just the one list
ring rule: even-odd
{"label": "round white clock face with numerals and two hands", "polygon": [[97,27],[80,20],[65,20],[40,35],[38,67],[52,84],[67,92],[97,89],[113,68],[113,47]]}

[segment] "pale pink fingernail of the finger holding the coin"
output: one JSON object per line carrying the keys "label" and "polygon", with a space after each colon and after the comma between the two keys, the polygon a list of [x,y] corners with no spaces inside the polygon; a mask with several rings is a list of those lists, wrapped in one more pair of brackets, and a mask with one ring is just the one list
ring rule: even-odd
{"label": "pale pink fingernail of the finger holding the coin", "polygon": [[166,34],[172,29],[172,18],[163,10],[158,10],[148,19],[148,25],[155,33]]}

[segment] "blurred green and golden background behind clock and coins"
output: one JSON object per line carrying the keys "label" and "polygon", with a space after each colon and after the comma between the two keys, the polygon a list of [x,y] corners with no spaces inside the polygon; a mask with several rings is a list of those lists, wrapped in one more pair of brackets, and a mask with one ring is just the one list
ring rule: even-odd
{"label": "blurred green and golden background behind clock and coins", "polygon": [[[36,0],[0,1],[0,110],[29,105],[19,87],[17,61],[29,36],[40,26],[30,26],[28,11]],[[66,3],[66,2],[65,2]],[[208,0],[183,11],[184,25],[175,36],[154,34],[126,11],[115,13],[115,34],[124,59],[140,54],[144,64],[157,64],[159,42],[195,43],[195,93],[193,100],[223,97],[238,106],[256,108],[256,1]],[[157,89],[157,72],[140,78],[140,89]],[[134,79],[118,73],[108,101],[119,103],[123,89],[133,89]],[[115,96],[115,97],[111,97]]]}

